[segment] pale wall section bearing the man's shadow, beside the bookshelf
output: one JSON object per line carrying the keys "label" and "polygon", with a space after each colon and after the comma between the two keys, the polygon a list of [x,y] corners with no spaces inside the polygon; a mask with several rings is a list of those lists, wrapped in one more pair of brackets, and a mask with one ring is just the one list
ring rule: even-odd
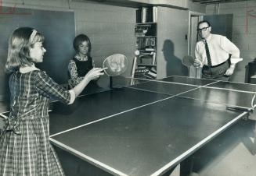
{"label": "pale wall section bearing the man's shadow, beside the bookshelf", "polygon": [[182,58],[188,51],[189,11],[158,7],[157,15],[157,79],[188,76]]}

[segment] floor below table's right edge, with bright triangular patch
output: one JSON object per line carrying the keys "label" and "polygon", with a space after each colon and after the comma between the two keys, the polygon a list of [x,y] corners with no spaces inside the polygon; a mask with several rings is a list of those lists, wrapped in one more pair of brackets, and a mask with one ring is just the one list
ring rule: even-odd
{"label": "floor below table's right edge, with bright triangular patch", "polygon": [[[254,130],[255,121],[241,120],[220,136],[217,136],[211,143],[207,143],[206,146],[191,156],[193,158],[193,172],[200,174],[200,176],[239,176],[240,171],[238,170],[246,168],[245,171],[241,171],[244,173],[243,175],[251,175],[247,174],[250,172],[255,173],[254,176],[256,176],[256,168],[248,167],[251,165],[251,163],[248,163],[250,162],[248,157],[251,158],[250,160],[254,160],[254,164],[256,164]],[[233,154],[234,151],[236,153]],[[226,158],[229,158],[229,160]],[[223,169],[218,167],[220,165],[227,167]],[[237,172],[232,174],[229,166],[236,167]]]}

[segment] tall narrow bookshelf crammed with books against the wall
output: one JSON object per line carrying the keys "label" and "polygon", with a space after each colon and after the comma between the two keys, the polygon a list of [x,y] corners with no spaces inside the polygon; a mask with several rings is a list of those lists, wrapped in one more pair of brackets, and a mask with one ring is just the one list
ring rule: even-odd
{"label": "tall narrow bookshelf crammed with books against the wall", "polygon": [[157,7],[136,10],[135,62],[132,77],[157,78]]}

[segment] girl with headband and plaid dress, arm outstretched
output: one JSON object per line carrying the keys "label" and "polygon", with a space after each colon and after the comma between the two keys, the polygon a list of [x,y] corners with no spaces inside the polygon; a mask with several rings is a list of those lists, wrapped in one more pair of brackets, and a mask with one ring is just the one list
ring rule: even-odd
{"label": "girl with headband and plaid dress, arm outstretched", "polygon": [[0,134],[2,176],[64,175],[49,143],[49,100],[72,104],[92,79],[103,75],[103,69],[94,68],[72,90],[64,89],[34,66],[43,60],[43,41],[30,27],[14,30],[9,39],[10,114]]}

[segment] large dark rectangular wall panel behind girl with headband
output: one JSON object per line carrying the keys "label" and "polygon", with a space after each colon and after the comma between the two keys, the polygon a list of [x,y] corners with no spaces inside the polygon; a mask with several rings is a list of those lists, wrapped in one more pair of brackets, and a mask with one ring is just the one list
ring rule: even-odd
{"label": "large dark rectangular wall panel behind girl with headband", "polygon": [[44,55],[44,62],[37,66],[48,72],[49,76],[57,83],[67,83],[67,70],[66,72],[59,72],[59,70],[67,68],[70,58],[73,57],[74,49],[70,40],[73,40],[75,36],[74,12],[17,7],[15,11],[11,12],[10,7],[2,7],[0,21],[2,22],[0,23],[0,58],[2,58],[0,64],[0,100],[4,99],[3,97],[8,94],[6,92],[9,90],[9,76],[5,73],[8,40],[11,32],[18,26],[31,26],[43,33],[47,39],[44,43],[47,52]]}

